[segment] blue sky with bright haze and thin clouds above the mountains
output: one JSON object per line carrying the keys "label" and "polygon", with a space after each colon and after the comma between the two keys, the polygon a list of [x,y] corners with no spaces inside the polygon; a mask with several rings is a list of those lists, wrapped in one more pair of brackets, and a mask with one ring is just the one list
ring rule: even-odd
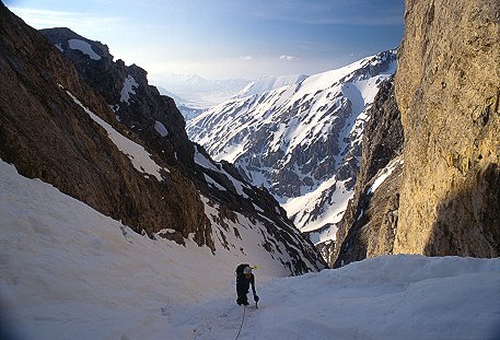
{"label": "blue sky with bright haze and thin clouds above the mountains", "polygon": [[397,47],[404,0],[4,0],[35,28],[66,26],[162,74],[314,74]]}

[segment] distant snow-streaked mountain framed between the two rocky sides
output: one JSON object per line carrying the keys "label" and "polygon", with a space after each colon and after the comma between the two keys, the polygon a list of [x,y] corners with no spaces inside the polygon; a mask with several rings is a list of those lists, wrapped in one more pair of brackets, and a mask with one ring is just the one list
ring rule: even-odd
{"label": "distant snow-streaked mountain framed between the two rocky sides", "polygon": [[396,50],[301,82],[235,97],[188,121],[191,140],[266,187],[313,241],[335,238],[352,197],[363,127]]}

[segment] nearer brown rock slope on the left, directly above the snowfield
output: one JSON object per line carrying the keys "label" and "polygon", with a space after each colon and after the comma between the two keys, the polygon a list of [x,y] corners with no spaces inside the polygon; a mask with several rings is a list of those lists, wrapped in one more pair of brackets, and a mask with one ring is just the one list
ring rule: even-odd
{"label": "nearer brown rock slope on the left, directly above the snowfield", "polygon": [[[170,227],[213,248],[195,186],[166,162],[163,180],[144,178],[106,131],[66,93],[129,139],[105,101],[37,31],[0,7],[0,156],[106,215],[149,235]],[[61,89],[61,86],[63,89]]]}

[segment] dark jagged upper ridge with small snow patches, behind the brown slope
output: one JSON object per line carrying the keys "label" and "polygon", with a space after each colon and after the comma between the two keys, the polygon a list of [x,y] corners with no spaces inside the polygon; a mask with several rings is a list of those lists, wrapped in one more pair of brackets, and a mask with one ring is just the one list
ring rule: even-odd
{"label": "dark jagged upper ridge with small snow patches, behind the brown slope", "polygon": [[[172,98],[160,95],[155,86],[148,84],[148,73],[143,69],[136,65],[127,67],[121,59],[114,61],[106,45],[82,37],[69,28],[40,32],[71,60],[83,80],[104,97],[118,121],[162,153],[170,165],[186,165],[183,168],[185,172],[195,168],[195,150],[185,132],[182,115]],[[158,131],[159,124],[165,128],[164,136]]]}

